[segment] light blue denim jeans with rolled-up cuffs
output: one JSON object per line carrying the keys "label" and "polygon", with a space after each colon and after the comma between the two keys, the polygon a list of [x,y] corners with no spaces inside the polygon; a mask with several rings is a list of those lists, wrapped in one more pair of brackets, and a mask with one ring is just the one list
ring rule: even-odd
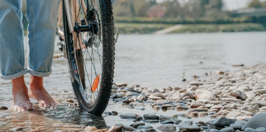
{"label": "light blue denim jeans with rolled-up cuffs", "polygon": [[29,73],[51,74],[57,10],[60,0],[26,0],[28,24],[28,66],[25,68],[22,0],[0,0],[0,72],[11,80]]}

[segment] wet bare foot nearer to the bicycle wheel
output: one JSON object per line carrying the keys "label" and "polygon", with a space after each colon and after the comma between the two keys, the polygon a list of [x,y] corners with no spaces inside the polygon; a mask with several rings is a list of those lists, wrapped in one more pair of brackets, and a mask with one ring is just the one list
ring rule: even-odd
{"label": "wet bare foot nearer to the bicycle wheel", "polygon": [[28,96],[39,102],[39,105],[45,108],[56,107],[57,102],[48,94],[43,87],[43,78],[30,76],[30,90]]}

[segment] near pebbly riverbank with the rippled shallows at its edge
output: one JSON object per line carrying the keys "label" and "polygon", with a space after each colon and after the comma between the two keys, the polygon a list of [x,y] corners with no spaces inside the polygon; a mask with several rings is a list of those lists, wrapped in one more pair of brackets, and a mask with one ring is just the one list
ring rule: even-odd
{"label": "near pebbly riverbank with the rippled shallows at its edge", "polygon": [[[163,89],[116,83],[100,117],[77,108],[73,93],[52,94],[56,109],[13,113],[1,107],[0,131],[252,132],[265,130],[266,64],[217,71]],[[9,102],[6,98],[2,102]],[[255,117],[255,118],[253,118]],[[46,122],[48,121],[48,122]],[[47,127],[49,126],[49,127]],[[263,127],[263,128],[262,128]],[[262,131],[263,132],[263,131]]]}

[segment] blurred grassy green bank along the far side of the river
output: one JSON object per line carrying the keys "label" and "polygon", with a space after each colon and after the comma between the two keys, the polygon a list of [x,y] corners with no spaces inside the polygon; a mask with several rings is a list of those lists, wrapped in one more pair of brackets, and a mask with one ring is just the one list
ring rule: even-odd
{"label": "blurred grassy green bank along the far side of the river", "polygon": [[[152,34],[159,30],[174,27],[175,24],[156,23],[116,23],[120,34]],[[266,31],[259,23],[233,24],[183,24],[182,27],[166,33],[208,33],[208,32],[251,32]]]}

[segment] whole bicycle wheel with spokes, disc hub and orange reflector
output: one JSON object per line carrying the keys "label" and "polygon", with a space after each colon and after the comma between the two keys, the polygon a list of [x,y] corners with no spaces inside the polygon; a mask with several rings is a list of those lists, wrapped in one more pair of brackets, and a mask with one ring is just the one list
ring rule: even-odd
{"label": "whole bicycle wheel with spokes, disc hub and orange reflector", "polygon": [[[75,2],[77,1],[77,2]],[[65,1],[63,1],[65,2]],[[79,107],[101,115],[107,107],[114,73],[114,27],[111,0],[68,0],[74,31],[63,6],[65,48]],[[86,9],[87,8],[87,9]]]}

